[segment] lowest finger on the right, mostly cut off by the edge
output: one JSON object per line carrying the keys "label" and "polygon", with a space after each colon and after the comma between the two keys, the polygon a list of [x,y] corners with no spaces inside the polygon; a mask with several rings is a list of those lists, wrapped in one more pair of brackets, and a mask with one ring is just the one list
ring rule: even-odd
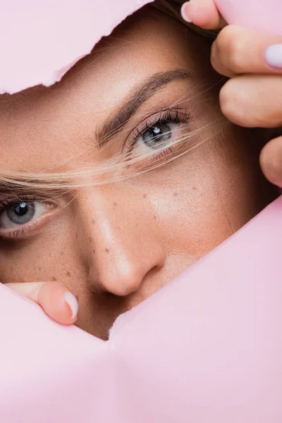
{"label": "lowest finger on the right, mostly cut off by the edge", "polygon": [[282,137],[274,138],[264,146],[259,161],[266,178],[282,188]]}

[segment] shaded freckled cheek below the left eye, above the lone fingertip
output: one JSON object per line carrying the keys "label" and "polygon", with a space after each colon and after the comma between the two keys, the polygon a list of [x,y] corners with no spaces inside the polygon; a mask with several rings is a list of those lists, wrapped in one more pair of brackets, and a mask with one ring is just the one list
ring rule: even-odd
{"label": "shaded freckled cheek below the left eye, above the lone fingertip", "polygon": [[1,282],[61,281],[72,288],[84,269],[67,225],[54,221],[30,241],[1,246]]}

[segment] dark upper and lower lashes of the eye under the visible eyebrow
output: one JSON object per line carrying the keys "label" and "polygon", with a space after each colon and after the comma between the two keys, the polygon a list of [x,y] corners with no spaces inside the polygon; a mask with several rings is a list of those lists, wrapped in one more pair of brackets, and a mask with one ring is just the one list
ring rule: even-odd
{"label": "dark upper and lower lashes of the eye under the visible eyebrow", "polygon": [[[176,107],[176,109],[164,109],[159,114],[154,114],[146,119],[145,122],[137,126],[133,131],[133,135],[130,137],[130,140],[125,142],[126,155],[130,156],[130,153],[133,152],[133,149],[136,145],[136,142],[139,137],[142,137],[147,130],[154,128],[157,125],[164,125],[167,123],[189,123],[190,114],[187,111],[181,111]],[[141,128],[140,128],[141,126]],[[159,159],[164,159],[167,157],[167,154],[175,154],[173,146],[168,147],[167,149],[161,149],[161,152],[153,154],[150,159],[152,161],[159,161]]]}

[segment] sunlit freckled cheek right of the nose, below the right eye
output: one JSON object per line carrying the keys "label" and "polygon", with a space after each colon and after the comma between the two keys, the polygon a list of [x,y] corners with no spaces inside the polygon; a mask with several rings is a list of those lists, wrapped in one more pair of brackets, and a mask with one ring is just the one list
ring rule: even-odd
{"label": "sunlit freckled cheek right of the nose, below the right eye", "polygon": [[232,137],[226,147],[223,139],[207,141],[155,173],[154,183],[150,178],[149,198],[168,251],[195,261],[256,214],[255,172],[239,150]]}

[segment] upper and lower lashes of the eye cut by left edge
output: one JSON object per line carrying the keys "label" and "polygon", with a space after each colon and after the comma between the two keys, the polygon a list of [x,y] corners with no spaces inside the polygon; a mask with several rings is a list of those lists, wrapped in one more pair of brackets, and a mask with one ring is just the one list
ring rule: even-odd
{"label": "upper and lower lashes of the eye cut by left edge", "polygon": [[[20,202],[23,203],[32,203],[32,202],[47,202],[46,199],[43,199],[42,197],[35,197],[35,196],[29,196],[29,195],[23,195],[18,196],[16,198],[6,198],[5,200],[0,200],[0,216],[5,212],[7,207],[11,204],[18,204]],[[48,201],[48,204],[51,204],[50,201]],[[11,228],[11,230],[7,230],[6,232],[0,232],[0,239],[4,240],[13,240],[13,239],[20,239],[25,237],[27,235],[30,235],[30,231],[32,231],[33,226],[37,226],[39,221],[47,219],[48,213],[39,214],[37,218],[32,219],[30,222],[27,222],[23,224],[22,226],[19,226],[18,228]],[[1,231],[1,230],[0,230]]]}

